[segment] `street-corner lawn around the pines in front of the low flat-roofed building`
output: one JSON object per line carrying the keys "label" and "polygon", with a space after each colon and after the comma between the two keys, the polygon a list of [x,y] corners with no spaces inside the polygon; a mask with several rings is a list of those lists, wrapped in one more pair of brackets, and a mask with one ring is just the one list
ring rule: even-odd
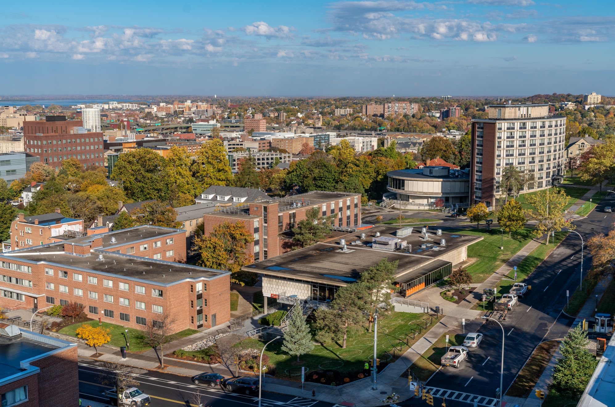
{"label": "street-corner lawn around the pines in front of the low flat-roofed building", "polygon": [[[406,334],[411,333],[412,329],[419,330],[416,324],[418,320],[425,317],[425,314],[411,314],[408,312],[394,312],[390,315],[381,316],[378,318],[378,358],[382,362],[391,360],[394,346],[395,357],[405,352],[409,346],[418,341],[421,335],[416,334],[416,339],[413,340]],[[435,323],[435,319],[434,319]],[[430,325],[427,328],[431,328]],[[424,324],[423,324],[424,327]],[[423,334],[426,330],[423,328]],[[367,326],[357,326],[355,332],[348,334],[346,341],[346,349],[341,348],[341,342],[325,342],[323,344],[315,344],[314,349],[307,355],[301,356],[301,363],[296,363],[296,357],[291,357],[282,351],[282,339],[271,342],[266,348],[265,353],[271,360],[271,365],[274,367],[276,377],[291,380],[301,379],[301,366],[305,366],[306,373],[314,370],[335,369],[341,372],[346,377],[352,380],[357,379],[357,374],[363,371],[363,364],[373,357],[373,332],[367,331]],[[408,339],[408,345],[403,344],[400,340]],[[240,342],[243,346],[262,349],[264,341],[256,338],[244,339]],[[401,349],[400,349],[401,347]]]}

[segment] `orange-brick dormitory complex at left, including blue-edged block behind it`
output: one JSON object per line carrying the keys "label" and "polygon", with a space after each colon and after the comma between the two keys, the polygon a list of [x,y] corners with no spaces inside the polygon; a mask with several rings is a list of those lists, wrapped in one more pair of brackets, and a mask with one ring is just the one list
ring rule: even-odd
{"label": "orange-brick dormitory complex at left, including blue-edged block behind it", "polygon": [[[81,231],[47,232],[67,223]],[[185,230],[136,226],[109,232],[101,226],[83,232],[82,225],[59,213],[20,215],[12,237],[33,235],[33,245],[0,255],[0,306],[42,309],[74,301],[90,318],[137,329],[163,314],[170,315],[174,331],[230,319],[229,272],[180,263],[186,261]]]}

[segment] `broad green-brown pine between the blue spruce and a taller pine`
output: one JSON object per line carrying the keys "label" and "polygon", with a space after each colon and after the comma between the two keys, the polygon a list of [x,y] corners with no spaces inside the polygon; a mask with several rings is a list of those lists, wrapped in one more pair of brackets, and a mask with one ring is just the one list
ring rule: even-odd
{"label": "broad green-brown pine between the blue spruce and a taller pine", "polygon": [[318,332],[316,339],[321,342],[332,339],[341,341],[342,349],[346,349],[349,330],[363,320],[363,310],[367,308],[364,296],[363,285],[359,283],[338,288],[330,302],[331,307],[319,308],[314,312],[314,328]]}

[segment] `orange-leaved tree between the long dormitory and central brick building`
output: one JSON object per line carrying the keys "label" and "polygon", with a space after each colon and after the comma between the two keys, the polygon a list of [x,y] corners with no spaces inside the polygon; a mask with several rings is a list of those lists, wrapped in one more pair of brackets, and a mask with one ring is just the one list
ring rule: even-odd
{"label": "orange-leaved tree between the long dormitory and central brick building", "polygon": [[224,222],[214,226],[208,236],[197,234],[192,242],[192,252],[200,255],[199,266],[231,271],[231,281],[244,285],[244,280],[252,277],[241,269],[254,259],[248,253],[248,245],[252,242],[254,236],[243,221]]}

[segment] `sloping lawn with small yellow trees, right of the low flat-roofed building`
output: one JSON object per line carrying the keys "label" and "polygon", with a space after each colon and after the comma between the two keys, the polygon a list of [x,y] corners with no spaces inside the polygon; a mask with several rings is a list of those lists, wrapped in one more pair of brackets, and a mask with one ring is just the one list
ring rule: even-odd
{"label": "sloping lawn with small yellow trees, right of the low flat-roofed building", "polygon": [[500,250],[502,236],[498,228],[491,229],[491,232],[488,232],[483,226],[483,229],[480,230],[462,231],[459,233],[483,237],[483,240],[467,248],[468,258],[477,258],[477,261],[467,267],[467,271],[472,274],[472,282],[475,283],[485,281],[532,239],[532,229],[528,227],[514,232],[510,238],[505,232],[504,250]]}

